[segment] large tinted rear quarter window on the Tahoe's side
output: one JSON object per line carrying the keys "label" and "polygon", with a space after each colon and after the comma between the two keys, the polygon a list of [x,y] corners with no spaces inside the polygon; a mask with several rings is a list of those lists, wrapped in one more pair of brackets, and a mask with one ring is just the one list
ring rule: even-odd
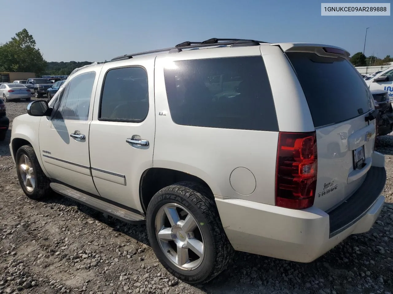
{"label": "large tinted rear quarter window on the Tahoe's side", "polygon": [[164,74],[175,123],[278,131],[261,56],[176,61]]}

